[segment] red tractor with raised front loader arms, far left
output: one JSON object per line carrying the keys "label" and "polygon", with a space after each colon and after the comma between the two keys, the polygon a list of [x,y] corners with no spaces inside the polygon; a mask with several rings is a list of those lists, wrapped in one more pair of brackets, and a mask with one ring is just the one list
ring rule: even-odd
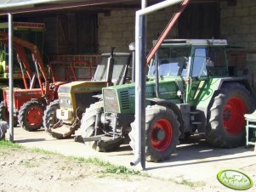
{"label": "red tractor with raised front loader arms, far left", "polygon": [[[8,41],[8,36],[5,32],[0,31],[0,39]],[[14,117],[20,123],[20,127],[23,127],[27,131],[37,131],[43,124],[43,111],[47,104],[54,99],[58,98],[57,90],[60,85],[65,82],[53,82],[49,83],[48,75],[43,66],[43,59],[37,46],[31,42],[14,37],[14,49],[17,52],[15,46],[23,50],[28,49],[31,53],[32,60],[35,64],[36,75],[31,75],[29,65],[26,65],[26,73],[30,76],[30,87],[27,86],[26,78],[24,83],[26,89],[16,88],[14,89]],[[24,52],[18,51],[20,61],[26,60]],[[22,58],[22,59],[21,59]],[[21,70],[23,72],[23,70]],[[39,88],[34,88],[37,76],[37,84]],[[42,81],[43,76],[43,81]],[[8,120],[8,106],[9,106],[9,88],[3,88],[3,102],[0,104],[0,112],[2,114],[3,121]]]}

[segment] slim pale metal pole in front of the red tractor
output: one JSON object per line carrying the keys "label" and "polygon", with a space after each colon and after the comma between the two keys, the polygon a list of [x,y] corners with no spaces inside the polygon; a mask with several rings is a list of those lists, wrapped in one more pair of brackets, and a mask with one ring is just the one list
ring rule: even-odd
{"label": "slim pale metal pole in front of the red tractor", "polygon": [[9,140],[14,143],[14,57],[13,15],[8,14],[9,27]]}

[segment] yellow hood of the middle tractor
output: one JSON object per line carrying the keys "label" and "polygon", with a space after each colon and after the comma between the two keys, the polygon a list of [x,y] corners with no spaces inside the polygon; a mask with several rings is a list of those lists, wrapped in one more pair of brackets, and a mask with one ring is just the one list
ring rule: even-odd
{"label": "yellow hood of the middle tractor", "polygon": [[70,82],[65,85],[61,85],[58,93],[90,93],[90,92],[99,92],[102,88],[108,86],[107,82],[94,82],[94,81],[85,81],[85,82]]}

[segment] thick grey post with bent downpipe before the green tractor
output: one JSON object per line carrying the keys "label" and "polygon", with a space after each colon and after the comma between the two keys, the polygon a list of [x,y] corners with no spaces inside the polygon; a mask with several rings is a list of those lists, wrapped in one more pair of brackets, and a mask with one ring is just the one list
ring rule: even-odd
{"label": "thick grey post with bent downpipe before the green tractor", "polygon": [[[145,169],[145,20],[144,15],[162,8],[180,3],[183,0],[166,0],[145,8],[146,0],[141,0],[144,8],[136,11],[135,16],[135,160],[131,166],[139,162]],[[144,133],[142,133],[144,131]],[[141,148],[143,146],[143,149]],[[144,153],[144,154],[143,154]],[[143,156],[144,155],[144,156]],[[144,158],[141,159],[141,158]]]}

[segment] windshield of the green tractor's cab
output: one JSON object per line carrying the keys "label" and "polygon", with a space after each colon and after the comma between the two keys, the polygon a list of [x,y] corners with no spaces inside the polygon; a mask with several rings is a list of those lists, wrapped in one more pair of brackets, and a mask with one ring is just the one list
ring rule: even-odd
{"label": "windshield of the green tractor's cab", "polygon": [[191,47],[171,47],[169,45],[159,48],[158,58],[151,60],[148,76],[155,76],[156,61],[159,62],[159,76],[188,76],[187,65],[191,56]]}

